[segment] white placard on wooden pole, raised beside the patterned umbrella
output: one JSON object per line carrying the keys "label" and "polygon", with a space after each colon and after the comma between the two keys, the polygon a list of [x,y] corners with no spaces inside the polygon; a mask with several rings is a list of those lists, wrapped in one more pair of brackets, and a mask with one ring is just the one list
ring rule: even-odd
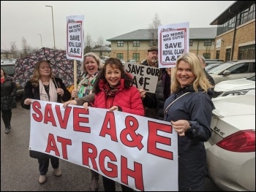
{"label": "white placard on wooden pole, raised beside the patterned umbrella", "polygon": [[83,61],[83,15],[67,16],[67,58]]}

